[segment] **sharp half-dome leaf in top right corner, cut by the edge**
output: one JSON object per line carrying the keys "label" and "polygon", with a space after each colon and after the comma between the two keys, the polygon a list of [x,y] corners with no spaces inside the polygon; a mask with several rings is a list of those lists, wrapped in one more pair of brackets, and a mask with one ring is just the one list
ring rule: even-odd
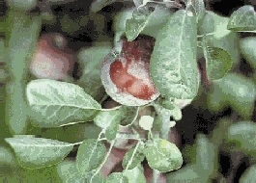
{"label": "sharp half-dome leaf in top right corner, cut by the edge", "polygon": [[256,13],[253,6],[246,5],[232,13],[227,28],[232,31],[256,33]]}

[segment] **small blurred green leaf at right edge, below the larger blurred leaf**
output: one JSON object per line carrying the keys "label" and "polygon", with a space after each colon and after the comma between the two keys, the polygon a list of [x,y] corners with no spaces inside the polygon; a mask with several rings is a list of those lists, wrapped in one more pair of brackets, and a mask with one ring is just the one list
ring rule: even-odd
{"label": "small blurred green leaf at right edge, below the larger blurred leaf", "polygon": [[227,141],[239,145],[247,153],[256,152],[256,124],[252,121],[241,121],[228,128]]}

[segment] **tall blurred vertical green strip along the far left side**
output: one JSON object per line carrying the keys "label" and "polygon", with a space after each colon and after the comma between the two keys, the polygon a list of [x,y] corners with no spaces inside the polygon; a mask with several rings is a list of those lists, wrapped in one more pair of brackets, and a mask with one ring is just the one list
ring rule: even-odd
{"label": "tall blurred vertical green strip along the far left side", "polygon": [[6,49],[4,58],[9,78],[5,86],[7,94],[6,121],[13,134],[23,134],[28,125],[28,106],[25,85],[31,56],[41,31],[41,17],[9,11],[6,16]]}

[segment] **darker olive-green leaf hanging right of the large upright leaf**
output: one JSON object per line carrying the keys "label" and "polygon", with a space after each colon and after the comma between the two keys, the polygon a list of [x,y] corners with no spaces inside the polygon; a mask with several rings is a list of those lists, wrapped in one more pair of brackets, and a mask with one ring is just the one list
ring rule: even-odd
{"label": "darker olive-green leaf hanging right of the large upright leaf", "polygon": [[222,78],[232,67],[230,54],[222,48],[208,46],[207,40],[203,40],[203,50],[208,78],[210,80]]}

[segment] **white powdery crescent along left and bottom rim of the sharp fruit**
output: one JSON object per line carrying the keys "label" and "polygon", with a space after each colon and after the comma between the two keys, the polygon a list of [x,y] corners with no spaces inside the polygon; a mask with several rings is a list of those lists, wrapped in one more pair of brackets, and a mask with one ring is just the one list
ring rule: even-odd
{"label": "white powdery crescent along left and bottom rim of the sharp fruit", "polygon": [[[110,65],[115,61],[116,59],[113,58],[113,55],[110,53],[105,58],[104,62],[101,65],[101,82],[102,85],[105,88],[106,93],[113,98],[115,101],[117,101],[120,104],[127,105],[127,106],[143,106],[151,101],[156,100],[156,98],[159,96],[159,92],[156,92],[151,96],[150,100],[143,100],[136,98],[129,94],[128,92],[120,92],[118,91],[118,88],[116,85],[112,82],[110,78]],[[120,58],[119,58],[120,60]],[[123,63],[123,62],[122,62]]]}

